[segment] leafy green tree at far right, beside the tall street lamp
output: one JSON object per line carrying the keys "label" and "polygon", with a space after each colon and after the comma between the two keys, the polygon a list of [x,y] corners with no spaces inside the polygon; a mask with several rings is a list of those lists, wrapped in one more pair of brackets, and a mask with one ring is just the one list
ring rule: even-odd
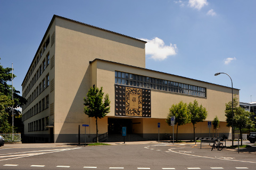
{"label": "leafy green tree at far right, beside the tall street lamp", "polygon": [[254,121],[252,120],[253,113],[249,111],[245,111],[242,107],[240,107],[239,102],[237,101],[237,97],[235,96],[233,98],[233,112],[234,117],[232,118],[232,101],[229,101],[226,103],[226,110],[225,110],[225,116],[227,121],[227,126],[232,126],[232,120],[233,125],[240,130],[240,139],[241,139],[241,145],[243,143],[242,141],[242,128],[247,127],[254,127]]}

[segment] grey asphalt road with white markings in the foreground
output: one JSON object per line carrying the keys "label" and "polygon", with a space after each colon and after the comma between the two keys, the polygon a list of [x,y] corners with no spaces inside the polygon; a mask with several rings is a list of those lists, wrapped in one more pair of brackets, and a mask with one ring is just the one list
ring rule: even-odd
{"label": "grey asphalt road with white markings in the foreground", "polygon": [[256,154],[205,144],[0,149],[0,169],[256,169]]}

